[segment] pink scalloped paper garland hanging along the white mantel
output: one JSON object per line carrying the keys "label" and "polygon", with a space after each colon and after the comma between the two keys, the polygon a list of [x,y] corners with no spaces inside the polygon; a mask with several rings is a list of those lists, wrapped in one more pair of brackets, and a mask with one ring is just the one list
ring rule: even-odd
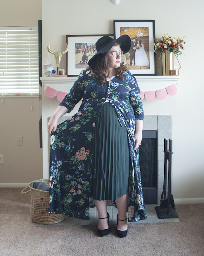
{"label": "pink scalloped paper garland hanging along the white mantel", "polygon": [[[61,102],[65,98],[65,96],[68,94],[68,92],[57,91],[49,86],[45,86],[45,87],[47,87],[45,91],[45,95],[47,96],[47,98],[54,98],[57,94],[57,100],[59,100],[59,102]],[[177,94],[176,84],[172,84],[171,86],[168,86],[166,88],[163,88],[157,91],[149,91],[149,92],[141,91],[140,95],[142,100],[145,97],[147,101],[153,101],[155,99],[155,95],[157,95],[158,99],[164,100],[167,97],[167,93],[171,96],[176,95]]]}

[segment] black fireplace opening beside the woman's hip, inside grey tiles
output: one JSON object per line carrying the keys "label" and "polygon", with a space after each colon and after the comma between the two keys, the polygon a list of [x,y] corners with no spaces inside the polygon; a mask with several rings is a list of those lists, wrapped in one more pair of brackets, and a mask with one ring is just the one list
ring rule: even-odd
{"label": "black fireplace opening beside the woman's hip, inside grey tiles", "polygon": [[157,204],[157,131],[143,131],[139,166],[145,204]]}

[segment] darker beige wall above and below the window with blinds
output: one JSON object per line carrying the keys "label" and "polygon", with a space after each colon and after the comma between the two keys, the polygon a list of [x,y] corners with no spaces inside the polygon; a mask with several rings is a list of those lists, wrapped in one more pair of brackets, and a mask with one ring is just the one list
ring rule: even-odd
{"label": "darker beige wall above and below the window with blinds", "polygon": [[[30,10],[28,12],[28,10]],[[38,26],[41,0],[1,2],[0,26]],[[39,98],[0,100],[0,186],[24,186],[43,177],[42,148],[39,148]],[[17,146],[17,136],[23,145]]]}

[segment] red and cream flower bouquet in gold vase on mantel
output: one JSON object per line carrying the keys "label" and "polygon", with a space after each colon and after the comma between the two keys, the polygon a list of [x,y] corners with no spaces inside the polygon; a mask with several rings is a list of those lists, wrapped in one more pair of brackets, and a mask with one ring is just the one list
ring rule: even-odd
{"label": "red and cream flower bouquet in gold vase on mantel", "polygon": [[[168,75],[178,75],[179,74],[179,69],[180,69],[180,63],[179,63],[179,69],[174,70],[174,56],[179,57],[180,54],[182,54],[182,50],[184,50],[183,44],[186,44],[183,38],[171,38],[171,36],[162,36],[161,39],[156,39],[155,38],[155,50],[154,52],[161,54],[159,56],[159,60],[162,56],[162,75],[163,76],[168,76]],[[168,54],[167,54],[168,53]],[[159,62],[157,61],[157,64]],[[177,58],[178,60],[178,58]],[[179,62],[179,60],[178,60]],[[158,70],[157,70],[158,71]],[[158,71],[159,72],[159,71]],[[159,74],[161,74],[159,72]]]}

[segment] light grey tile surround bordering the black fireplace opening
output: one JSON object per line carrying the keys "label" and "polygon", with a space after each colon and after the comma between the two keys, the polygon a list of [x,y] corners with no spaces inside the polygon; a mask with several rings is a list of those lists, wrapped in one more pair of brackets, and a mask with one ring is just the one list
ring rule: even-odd
{"label": "light grey tile surround bordering the black fireplace opening", "polygon": [[[59,118],[58,124],[67,120],[69,116]],[[159,115],[159,116],[145,116],[143,130],[157,131],[157,204],[160,204],[161,193],[163,191],[164,182],[164,139],[172,139],[172,116]],[[167,175],[168,178],[168,175]],[[172,188],[172,186],[171,186]]]}

